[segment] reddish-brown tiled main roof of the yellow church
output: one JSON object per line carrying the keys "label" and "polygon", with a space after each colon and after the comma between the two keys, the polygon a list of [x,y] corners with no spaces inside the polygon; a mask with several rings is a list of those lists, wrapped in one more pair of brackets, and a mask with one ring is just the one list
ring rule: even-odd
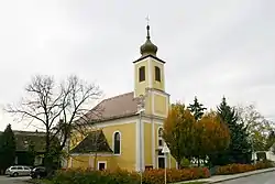
{"label": "reddish-brown tiled main roof of the yellow church", "polygon": [[132,91],[102,100],[86,117],[91,120],[105,121],[135,116],[136,112],[138,99],[134,98],[134,93]]}

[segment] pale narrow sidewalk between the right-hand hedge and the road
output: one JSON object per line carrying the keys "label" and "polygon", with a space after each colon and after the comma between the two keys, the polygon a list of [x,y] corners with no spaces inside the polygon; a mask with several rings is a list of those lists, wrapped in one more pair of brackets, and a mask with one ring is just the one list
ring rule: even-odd
{"label": "pale narrow sidewalk between the right-hand hedge and the road", "polygon": [[219,183],[219,182],[231,181],[231,180],[235,180],[235,178],[240,178],[240,177],[248,177],[251,175],[267,173],[267,172],[273,172],[273,171],[275,171],[275,167],[265,169],[265,170],[256,170],[256,171],[251,171],[251,172],[240,173],[240,174],[232,174],[232,175],[215,175],[215,176],[209,177],[209,178],[185,181],[185,182],[179,182],[176,184],[184,184],[184,183],[190,183],[190,182]]}

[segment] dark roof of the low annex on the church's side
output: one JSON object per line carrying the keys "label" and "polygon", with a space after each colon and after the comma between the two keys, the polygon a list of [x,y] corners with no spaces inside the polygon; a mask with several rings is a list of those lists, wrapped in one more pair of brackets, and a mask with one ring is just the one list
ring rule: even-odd
{"label": "dark roof of the low annex on the church's side", "polygon": [[105,133],[102,130],[91,131],[70,153],[111,153]]}

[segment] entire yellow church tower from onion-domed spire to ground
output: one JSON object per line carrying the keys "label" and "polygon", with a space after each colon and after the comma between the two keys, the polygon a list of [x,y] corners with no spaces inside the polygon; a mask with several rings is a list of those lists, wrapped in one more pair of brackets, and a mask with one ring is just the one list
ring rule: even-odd
{"label": "entire yellow church tower from onion-domed spire to ground", "polygon": [[[150,25],[146,40],[140,47],[141,56],[134,64],[134,98],[141,102],[143,111],[136,121],[136,169],[163,167],[163,141],[160,130],[168,115],[169,95],[165,91],[165,62],[157,57],[157,46],[152,43]],[[146,140],[146,141],[145,141]],[[170,164],[169,164],[170,165]]]}

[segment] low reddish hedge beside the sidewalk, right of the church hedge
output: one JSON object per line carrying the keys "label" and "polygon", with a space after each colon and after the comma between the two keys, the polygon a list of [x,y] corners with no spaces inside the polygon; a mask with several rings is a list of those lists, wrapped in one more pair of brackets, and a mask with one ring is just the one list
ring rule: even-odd
{"label": "low reddish hedge beside the sidewalk, right of the church hedge", "polygon": [[237,173],[244,173],[249,171],[255,171],[255,170],[262,170],[262,169],[268,169],[272,167],[273,164],[270,161],[264,161],[264,162],[257,162],[256,164],[229,164],[224,166],[219,166],[217,169],[218,175],[226,175],[226,174],[237,174]]}

